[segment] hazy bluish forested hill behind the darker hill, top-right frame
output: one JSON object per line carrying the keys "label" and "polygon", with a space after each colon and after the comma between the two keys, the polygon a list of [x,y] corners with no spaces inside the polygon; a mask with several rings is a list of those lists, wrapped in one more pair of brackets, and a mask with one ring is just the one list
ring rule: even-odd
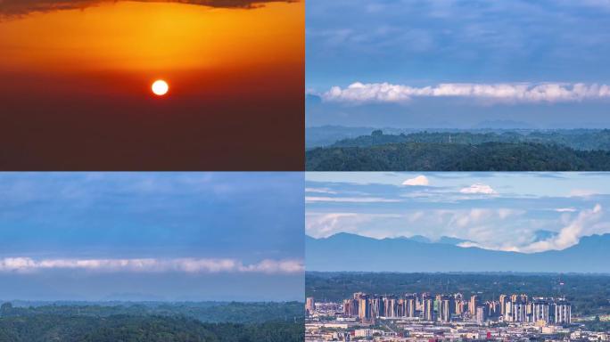
{"label": "hazy bluish forested hill behind the darker hill, top-right frame", "polygon": [[610,130],[573,129],[556,131],[505,131],[505,132],[419,132],[411,134],[383,134],[376,130],[370,135],[343,139],[329,147],[371,147],[388,143],[428,142],[476,145],[485,142],[532,142],[561,145],[574,150],[610,151]]}

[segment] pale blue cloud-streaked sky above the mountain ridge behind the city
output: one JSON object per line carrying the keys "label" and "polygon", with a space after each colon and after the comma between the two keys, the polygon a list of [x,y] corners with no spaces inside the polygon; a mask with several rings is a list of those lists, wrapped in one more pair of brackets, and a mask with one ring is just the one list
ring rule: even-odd
{"label": "pale blue cloud-streaked sky above the mountain ridge behind the city", "polygon": [[607,173],[307,173],[306,233],[540,252],[610,232]]}

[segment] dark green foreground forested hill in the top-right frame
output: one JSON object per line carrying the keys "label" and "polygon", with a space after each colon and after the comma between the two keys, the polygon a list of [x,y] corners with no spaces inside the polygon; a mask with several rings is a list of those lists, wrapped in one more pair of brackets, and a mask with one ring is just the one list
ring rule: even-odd
{"label": "dark green foreground forested hill in the top-right frame", "polygon": [[[453,139],[453,137],[452,137]],[[532,142],[400,142],[306,152],[308,171],[608,171],[610,151]]]}

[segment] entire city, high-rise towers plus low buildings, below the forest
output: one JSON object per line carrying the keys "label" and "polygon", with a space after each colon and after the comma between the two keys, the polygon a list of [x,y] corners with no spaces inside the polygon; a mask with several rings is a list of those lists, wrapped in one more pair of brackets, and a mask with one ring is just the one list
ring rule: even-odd
{"label": "entire city, high-rise towers plus low buildings, below the forest", "polygon": [[574,324],[565,297],[500,295],[482,301],[409,293],[354,293],[342,303],[308,297],[306,341],[610,340],[610,334]]}

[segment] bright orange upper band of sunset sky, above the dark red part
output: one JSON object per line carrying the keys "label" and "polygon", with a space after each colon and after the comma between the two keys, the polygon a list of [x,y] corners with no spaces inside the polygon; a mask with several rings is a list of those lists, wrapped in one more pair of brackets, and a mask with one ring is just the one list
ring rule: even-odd
{"label": "bright orange upper band of sunset sky, above the dark red part", "polygon": [[[154,73],[302,62],[304,4],[109,2],[0,21],[0,70]],[[302,39],[300,39],[302,37]]]}

